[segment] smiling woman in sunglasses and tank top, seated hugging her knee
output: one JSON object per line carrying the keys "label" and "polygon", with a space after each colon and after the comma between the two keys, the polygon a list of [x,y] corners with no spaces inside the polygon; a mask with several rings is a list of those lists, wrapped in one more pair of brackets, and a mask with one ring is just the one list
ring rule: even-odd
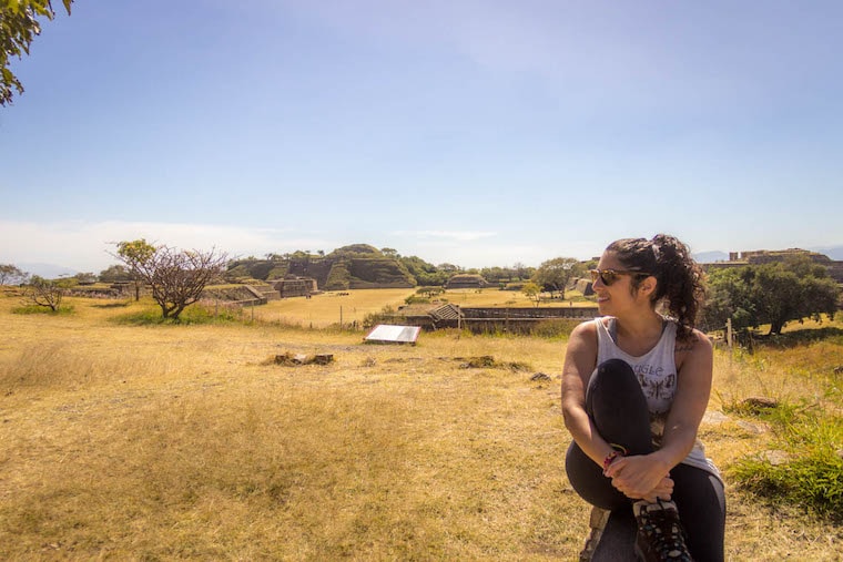
{"label": "smiling woman in sunglasses and tank top, seated hugging her knee", "polygon": [[643,560],[723,560],[723,482],[697,439],[712,377],[693,327],[702,270],[659,234],[613,242],[591,277],[601,317],[571,333],[562,374],[568,479],[593,505],[632,509]]}

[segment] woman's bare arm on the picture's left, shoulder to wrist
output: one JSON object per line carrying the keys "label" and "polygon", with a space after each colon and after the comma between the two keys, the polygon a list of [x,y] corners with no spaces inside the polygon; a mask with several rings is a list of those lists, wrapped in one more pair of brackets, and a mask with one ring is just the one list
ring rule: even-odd
{"label": "woman's bare arm on the picture's left, shoulder to wrist", "polygon": [[613,449],[597,432],[586,413],[586,388],[597,366],[597,328],[586,321],[568,338],[562,368],[562,416],[565,427],[582,451],[598,466]]}

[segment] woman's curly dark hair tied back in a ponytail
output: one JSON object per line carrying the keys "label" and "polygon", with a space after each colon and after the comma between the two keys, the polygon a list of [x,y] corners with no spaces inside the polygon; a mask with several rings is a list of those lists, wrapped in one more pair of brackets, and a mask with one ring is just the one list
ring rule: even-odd
{"label": "woman's curly dark hair tied back in a ponytail", "polygon": [[[682,334],[691,334],[705,299],[705,276],[687,245],[668,234],[657,234],[649,241],[615,241],[606,251],[615,253],[627,269],[653,275],[657,286],[652,302],[658,304],[663,300],[668,314],[676,318]],[[632,276],[633,290],[641,280],[642,277]]]}

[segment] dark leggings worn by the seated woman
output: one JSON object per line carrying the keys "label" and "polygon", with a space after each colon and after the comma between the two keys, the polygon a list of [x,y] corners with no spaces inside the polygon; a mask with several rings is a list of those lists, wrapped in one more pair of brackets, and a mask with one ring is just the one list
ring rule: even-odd
{"label": "dark leggings worn by the seated woman", "polygon": [[[629,454],[652,452],[650,415],[647,399],[632,368],[620,359],[598,366],[586,391],[586,411],[600,436],[621,445]],[[629,498],[576,442],[571,442],[565,462],[568,480],[583,500],[607,510],[631,510]],[[723,560],[725,493],[722,482],[709,472],[689,464],[677,464],[672,499],[688,532],[688,548],[694,560]]]}

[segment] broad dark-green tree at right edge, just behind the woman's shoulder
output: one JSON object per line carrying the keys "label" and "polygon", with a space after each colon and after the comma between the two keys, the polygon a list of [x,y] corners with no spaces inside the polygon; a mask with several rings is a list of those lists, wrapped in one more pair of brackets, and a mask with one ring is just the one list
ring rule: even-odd
{"label": "broad dark-green tree at right edge, just behind the woman's shoulder", "polygon": [[770,324],[770,334],[781,334],[789,321],[833,317],[839,294],[827,269],[804,259],[714,269],[703,324],[715,329],[732,318],[735,329]]}

